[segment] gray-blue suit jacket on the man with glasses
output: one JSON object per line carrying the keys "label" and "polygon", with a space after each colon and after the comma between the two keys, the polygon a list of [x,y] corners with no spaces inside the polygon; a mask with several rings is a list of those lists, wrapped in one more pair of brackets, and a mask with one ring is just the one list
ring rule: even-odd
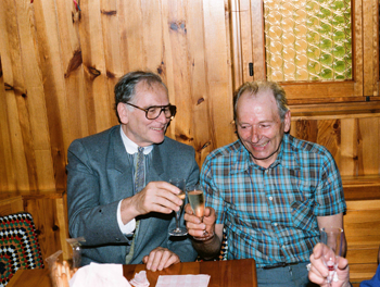
{"label": "gray-blue suit jacket on the man with glasses", "polygon": [[[81,265],[90,262],[125,263],[131,237],[117,224],[118,202],[134,194],[134,170],[127,159],[121,132],[114,126],[100,134],[76,139],[68,148],[67,205],[72,238],[84,236]],[[170,138],[154,145],[147,183],[172,177],[186,178],[187,185],[199,180],[194,149]],[[183,224],[183,219],[181,219]],[[197,252],[191,240],[170,238],[173,214],[149,213],[141,217],[131,264],[139,264],[154,248],[175,252],[182,262],[193,261]]]}

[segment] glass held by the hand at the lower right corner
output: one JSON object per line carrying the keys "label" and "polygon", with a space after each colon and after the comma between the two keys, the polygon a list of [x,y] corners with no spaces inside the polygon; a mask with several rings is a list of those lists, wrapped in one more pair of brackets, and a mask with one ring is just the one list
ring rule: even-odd
{"label": "glass held by the hand at the lower right corner", "polygon": [[327,276],[328,286],[335,280],[338,259],[342,257],[344,233],[339,227],[324,227],[320,229],[320,241],[325,245],[322,249],[322,261],[329,270]]}

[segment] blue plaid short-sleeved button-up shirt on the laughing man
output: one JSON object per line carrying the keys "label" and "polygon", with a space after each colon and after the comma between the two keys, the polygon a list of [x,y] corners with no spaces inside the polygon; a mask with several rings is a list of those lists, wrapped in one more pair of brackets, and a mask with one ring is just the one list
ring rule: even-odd
{"label": "blue plaid short-sleeved button-up shirt on the laughing man", "polygon": [[254,258],[257,267],[308,261],[319,241],[317,216],[346,208],[330,152],[287,134],[268,169],[256,165],[240,140],[213,151],[201,183],[206,205],[226,228],[228,259]]}

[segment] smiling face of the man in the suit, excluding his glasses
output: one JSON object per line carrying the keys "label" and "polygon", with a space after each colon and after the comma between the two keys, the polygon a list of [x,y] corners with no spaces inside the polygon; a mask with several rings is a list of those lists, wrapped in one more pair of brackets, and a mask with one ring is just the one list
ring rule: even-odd
{"label": "smiling face of the man in the suit, excluding his glasses", "polygon": [[[140,82],[136,86],[136,96],[132,103],[147,109],[152,105],[167,105],[169,104],[169,99],[166,89],[161,84],[152,83],[147,85],[145,82]],[[117,104],[117,112],[125,135],[139,147],[160,144],[164,140],[170,118],[166,118],[163,112],[157,118],[148,120],[144,111],[129,108],[122,102]]]}

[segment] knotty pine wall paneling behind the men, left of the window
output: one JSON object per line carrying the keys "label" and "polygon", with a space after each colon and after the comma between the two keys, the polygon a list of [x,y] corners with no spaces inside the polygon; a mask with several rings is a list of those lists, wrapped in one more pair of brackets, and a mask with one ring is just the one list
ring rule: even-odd
{"label": "knotty pine wall paneling behind the men, left of the window", "polygon": [[[226,1],[35,0],[0,3],[1,190],[65,188],[66,151],[117,124],[113,88],[162,76],[178,107],[167,135],[201,165],[236,139]],[[5,21],[7,20],[7,21]]]}

